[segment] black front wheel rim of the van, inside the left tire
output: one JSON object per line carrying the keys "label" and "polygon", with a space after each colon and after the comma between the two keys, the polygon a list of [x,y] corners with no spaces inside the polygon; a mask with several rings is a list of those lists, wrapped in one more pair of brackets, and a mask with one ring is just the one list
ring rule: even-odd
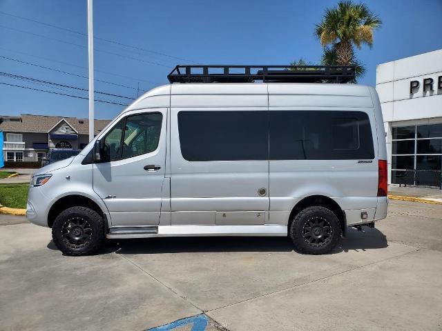
{"label": "black front wheel rim of the van, inside the left tire", "polygon": [[70,217],[61,227],[64,243],[74,249],[86,247],[92,239],[92,234],[92,226],[82,217]]}

